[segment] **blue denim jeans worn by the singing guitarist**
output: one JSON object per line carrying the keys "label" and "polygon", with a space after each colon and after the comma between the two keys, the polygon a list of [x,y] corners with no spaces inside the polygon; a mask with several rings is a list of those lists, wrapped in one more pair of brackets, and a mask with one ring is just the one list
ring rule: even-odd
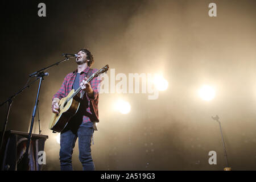
{"label": "blue denim jeans worn by the singing guitarist", "polygon": [[60,169],[73,170],[72,154],[76,139],[79,138],[79,160],[84,171],[94,171],[94,163],[90,150],[94,129],[92,127],[79,127],[77,132],[67,130],[60,134]]}

